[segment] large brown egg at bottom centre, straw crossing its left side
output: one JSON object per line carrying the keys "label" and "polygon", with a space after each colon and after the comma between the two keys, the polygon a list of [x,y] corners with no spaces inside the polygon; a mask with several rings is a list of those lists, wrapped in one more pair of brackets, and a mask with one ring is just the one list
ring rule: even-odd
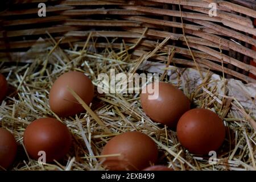
{"label": "large brown egg at bottom centre, straw crossing its left side", "polygon": [[158,159],[158,147],[146,134],[132,131],[109,140],[101,155],[115,155],[104,158],[103,166],[110,170],[141,170]]}

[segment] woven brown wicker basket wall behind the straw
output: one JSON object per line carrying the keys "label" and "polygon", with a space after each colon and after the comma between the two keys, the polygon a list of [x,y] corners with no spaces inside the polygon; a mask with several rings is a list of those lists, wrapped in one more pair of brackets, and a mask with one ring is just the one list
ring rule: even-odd
{"label": "woven brown wicker basket wall behind the straw", "polygon": [[[46,17],[38,16],[41,2],[46,3]],[[217,16],[211,17],[208,13],[212,2],[217,2]],[[132,52],[134,56],[143,55],[169,37],[163,50],[175,48],[173,63],[194,67],[194,57],[202,68],[220,75],[224,71],[228,78],[255,82],[254,0],[16,0],[1,3],[4,3],[0,14],[1,61],[18,61],[18,53],[27,51],[39,37],[49,39],[49,34],[56,41],[64,37],[60,42],[63,47],[82,47],[93,31],[92,36],[98,38],[96,47],[108,45],[106,39],[100,38],[105,36],[109,40],[118,38],[112,44],[118,48],[118,41],[134,44],[144,33]],[[155,58],[156,61],[164,59],[163,56]]]}

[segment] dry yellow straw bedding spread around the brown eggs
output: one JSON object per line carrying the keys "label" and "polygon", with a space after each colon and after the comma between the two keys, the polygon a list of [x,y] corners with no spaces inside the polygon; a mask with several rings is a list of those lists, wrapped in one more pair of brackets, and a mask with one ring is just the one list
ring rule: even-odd
{"label": "dry yellow straw bedding spread around the brown eggs", "polygon": [[[224,102],[225,96],[216,96],[216,89],[202,90],[203,86],[208,88],[208,76],[196,89],[187,92],[187,96],[191,99],[193,107],[207,107],[224,117],[227,137],[218,152],[215,165],[209,164],[209,156],[196,156],[186,151],[177,141],[175,131],[152,122],[143,113],[139,94],[99,94],[95,89],[94,100],[90,109],[85,106],[85,113],[68,118],[59,118],[52,113],[48,105],[49,90],[61,74],[68,71],[83,72],[97,87],[97,75],[110,74],[110,68],[115,69],[115,73],[133,73],[137,71],[139,64],[152,56],[164,55],[170,58],[172,51],[175,50],[166,52],[161,49],[167,39],[155,49],[143,53],[141,57],[131,54],[136,43],[115,43],[115,39],[101,45],[97,44],[95,38],[88,36],[88,40],[82,46],[70,45],[67,49],[59,47],[61,40],[50,40],[44,46],[40,44],[35,48],[35,52],[39,48],[38,53],[28,51],[23,55],[31,59],[26,59],[23,63],[1,65],[1,72],[5,73],[11,88],[14,88],[0,106],[0,126],[11,131],[19,143],[18,156],[11,169],[104,170],[98,160],[102,147],[115,135],[135,130],[155,140],[159,147],[159,164],[178,171],[256,169],[256,132],[249,122],[252,118],[246,114],[245,109],[232,102],[243,114],[243,118],[236,118],[229,110],[230,102]],[[162,63],[170,64],[170,61]],[[199,67],[197,68],[200,72]],[[168,82],[167,76],[162,78]],[[186,85],[176,86],[182,90],[190,90]],[[29,123],[42,117],[59,119],[69,127],[73,135],[73,145],[69,154],[59,162],[39,164],[36,160],[30,159],[24,150],[24,130]],[[105,126],[111,134],[106,132]]]}

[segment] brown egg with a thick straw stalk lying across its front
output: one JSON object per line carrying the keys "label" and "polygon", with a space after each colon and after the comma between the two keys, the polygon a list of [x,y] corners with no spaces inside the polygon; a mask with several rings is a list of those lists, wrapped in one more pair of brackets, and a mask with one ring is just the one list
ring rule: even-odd
{"label": "brown egg with a thick straw stalk lying across its front", "polygon": [[52,85],[49,92],[49,106],[61,117],[72,116],[84,111],[67,86],[74,90],[89,105],[92,102],[94,89],[90,79],[81,72],[68,72],[61,75]]}

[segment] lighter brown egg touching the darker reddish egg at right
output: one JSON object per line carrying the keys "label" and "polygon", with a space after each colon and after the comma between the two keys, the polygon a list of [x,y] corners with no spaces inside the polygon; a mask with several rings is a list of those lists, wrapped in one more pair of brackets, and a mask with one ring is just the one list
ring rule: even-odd
{"label": "lighter brown egg touching the darker reddish egg at right", "polygon": [[[155,89],[155,83],[159,83],[159,89]],[[148,88],[159,90],[156,99],[149,99],[152,94],[148,92]],[[181,115],[189,110],[190,102],[175,86],[166,82],[153,82],[142,90],[141,106],[152,121],[175,128]]]}

